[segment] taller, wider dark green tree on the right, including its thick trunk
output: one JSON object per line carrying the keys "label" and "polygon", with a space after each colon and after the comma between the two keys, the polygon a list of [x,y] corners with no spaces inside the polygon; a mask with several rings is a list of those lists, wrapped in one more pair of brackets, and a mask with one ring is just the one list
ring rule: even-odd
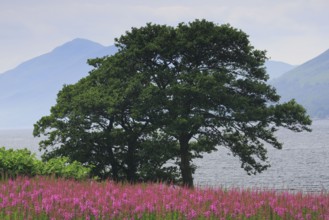
{"label": "taller, wider dark green tree on the right, including its thick trunk", "polygon": [[264,142],[282,147],[278,127],[310,131],[302,106],[279,103],[266,84],[265,51],[240,30],[205,20],[177,28],[148,24],[116,42],[131,67],[129,80],[142,73],[143,83],[154,87],[153,101],[145,103],[149,120],[179,143],[184,185],[193,186],[191,160],[202,152],[225,146],[256,174],[269,166]]}

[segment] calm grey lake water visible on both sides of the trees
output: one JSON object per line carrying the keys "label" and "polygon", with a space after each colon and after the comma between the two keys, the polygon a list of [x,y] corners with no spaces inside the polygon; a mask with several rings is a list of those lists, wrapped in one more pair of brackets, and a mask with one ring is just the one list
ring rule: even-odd
{"label": "calm grey lake water visible on both sides of the trees", "polygon": [[[271,167],[262,174],[248,176],[238,158],[226,148],[195,160],[198,186],[270,188],[277,190],[329,191],[329,120],[314,120],[311,133],[280,130],[282,150],[268,147]],[[0,130],[0,146],[28,148],[40,156],[32,130]]]}

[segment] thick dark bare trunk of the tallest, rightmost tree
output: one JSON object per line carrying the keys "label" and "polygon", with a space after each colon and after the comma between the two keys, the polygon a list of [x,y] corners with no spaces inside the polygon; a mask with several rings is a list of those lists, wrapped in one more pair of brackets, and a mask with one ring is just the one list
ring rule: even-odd
{"label": "thick dark bare trunk of the tallest, rightmost tree", "polygon": [[183,177],[183,185],[193,188],[192,168],[190,164],[191,155],[189,152],[189,138],[182,137],[179,139],[181,163],[180,169]]}

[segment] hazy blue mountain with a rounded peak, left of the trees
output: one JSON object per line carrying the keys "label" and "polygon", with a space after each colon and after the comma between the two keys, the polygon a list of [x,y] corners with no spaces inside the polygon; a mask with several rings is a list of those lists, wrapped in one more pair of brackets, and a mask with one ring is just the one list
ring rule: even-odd
{"label": "hazy blue mountain with a rounded peak, left of the trees", "polygon": [[115,46],[78,38],[0,74],[0,128],[32,128],[49,114],[64,84],[88,75],[92,67],[87,59],[116,51]]}

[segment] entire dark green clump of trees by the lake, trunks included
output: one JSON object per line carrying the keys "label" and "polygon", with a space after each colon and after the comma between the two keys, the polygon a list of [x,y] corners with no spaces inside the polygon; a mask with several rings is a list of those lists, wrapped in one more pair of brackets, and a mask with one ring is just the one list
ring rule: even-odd
{"label": "entire dark green clump of trees by the lake, trunks included", "polygon": [[[305,109],[280,103],[267,84],[265,51],[230,25],[206,20],[147,24],[115,39],[119,51],[89,60],[89,76],[64,86],[35,135],[44,158],[91,163],[95,174],[129,181],[179,180],[193,186],[192,159],[218,147],[248,174],[269,166],[275,131],[310,131]],[[178,168],[180,173],[178,173]]]}

